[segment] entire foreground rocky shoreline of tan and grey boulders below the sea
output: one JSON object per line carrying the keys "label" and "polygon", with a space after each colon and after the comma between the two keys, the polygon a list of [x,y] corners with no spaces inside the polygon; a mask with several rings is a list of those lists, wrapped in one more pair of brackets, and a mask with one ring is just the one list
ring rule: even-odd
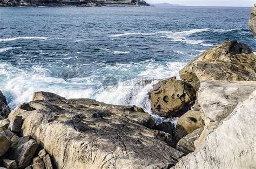
{"label": "entire foreground rocky shoreline of tan and grey boulders below the sea", "polygon": [[0,92],[0,168],[255,168],[256,55],[226,41],[150,93],[142,108],[35,92],[10,111]]}

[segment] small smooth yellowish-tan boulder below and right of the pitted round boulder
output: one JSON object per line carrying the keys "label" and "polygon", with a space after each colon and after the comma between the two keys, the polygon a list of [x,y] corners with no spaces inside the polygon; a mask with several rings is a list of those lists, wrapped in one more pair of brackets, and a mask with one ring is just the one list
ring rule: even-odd
{"label": "small smooth yellowish-tan boulder below and right of the pitted round boulder", "polygon": [[201,114],[200,111],[189,110],[178,119],[175,133],[177,142],[189,133],[192,133],[198,128],[202,128],[205,125],[204,120],[201,118]]}

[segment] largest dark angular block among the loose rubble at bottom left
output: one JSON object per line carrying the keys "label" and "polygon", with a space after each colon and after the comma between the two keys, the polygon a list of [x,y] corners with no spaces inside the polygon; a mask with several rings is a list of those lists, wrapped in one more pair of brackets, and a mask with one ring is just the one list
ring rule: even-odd
{"label": "largest dark angular block among the loose rubble at bottom left", "polygon": [[9,159],[15,160],[19,168],[28,167],[37,147],[36,141],[30,139],[18,147],[13,147],[9,152]]}

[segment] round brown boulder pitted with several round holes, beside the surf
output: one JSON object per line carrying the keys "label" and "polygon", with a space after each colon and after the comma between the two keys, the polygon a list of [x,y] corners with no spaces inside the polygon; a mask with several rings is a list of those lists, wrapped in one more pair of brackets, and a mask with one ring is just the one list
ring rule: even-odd
{"label": "round brown boulder pitted with several round holes, beside the surf", "polygon": [[176,77],[162,80],[150,93],[152,111],[163,117],[178,117],[191,108],[196,100],[196,90]]}

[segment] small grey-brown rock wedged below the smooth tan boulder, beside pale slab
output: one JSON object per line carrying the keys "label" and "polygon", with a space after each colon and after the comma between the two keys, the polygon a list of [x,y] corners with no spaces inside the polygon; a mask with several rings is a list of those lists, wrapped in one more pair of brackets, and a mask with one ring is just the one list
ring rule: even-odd
{"label": "small grey-brown rock wedged below the smooth tan boulder, beside pale slab", "polygon": [[176,149],[185,154],[194,152],[194,150],[196,150],[196,147],[194,146],[194,141],[196,141],[200,137],[203,130],[204,128],[196,129],[185,137],[181,138],[176,145]]}

